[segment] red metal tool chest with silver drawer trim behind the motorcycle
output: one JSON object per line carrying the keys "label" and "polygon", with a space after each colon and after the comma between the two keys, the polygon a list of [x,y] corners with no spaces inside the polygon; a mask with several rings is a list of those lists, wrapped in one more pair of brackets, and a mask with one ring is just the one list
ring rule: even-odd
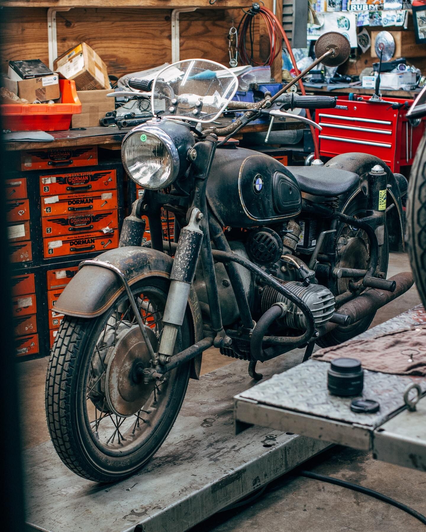
{"label": "red metal tool chest with silver drawer trim behind the motorcycle", "polygon": [[[339,96],[336,109],[317,111],[316,122],[322,127],[322,131],[316,130],[320,155],[369,153],[382,159],[392,172],[411,166],[426,123],[425,119],[417,125],[407,120],[406,114],[413,100],[359,98],[350,100],[349,96]],[[408,102],[407,106],[405,102]],[[394,104],[403,106],[392,109]]]}

